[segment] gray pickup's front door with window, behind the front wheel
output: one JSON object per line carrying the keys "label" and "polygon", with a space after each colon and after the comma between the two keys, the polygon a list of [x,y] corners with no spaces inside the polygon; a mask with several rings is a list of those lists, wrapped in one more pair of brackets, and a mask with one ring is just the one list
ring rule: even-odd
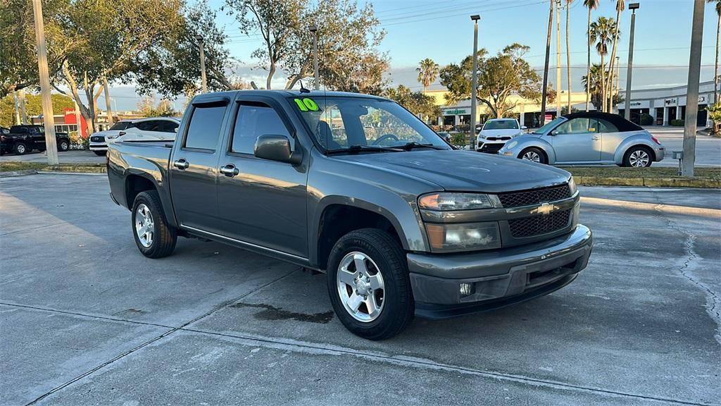
{"label": "gray pickup's front door with window, behind the front wheel", "polygon": [[[218,168],[218,214],[223,235],[294,256],[308,257],[307,166],[263,160],[261,135],[283,135],[297,148],[291,121],[272,99],[239,95]],[[229,171],[231,168],[233,172]]]}

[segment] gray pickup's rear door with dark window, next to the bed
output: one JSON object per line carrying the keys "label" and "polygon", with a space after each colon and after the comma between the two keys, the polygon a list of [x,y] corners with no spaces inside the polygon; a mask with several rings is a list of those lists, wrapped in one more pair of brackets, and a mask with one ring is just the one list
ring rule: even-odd
{"label": "gray pickup's rear door with dark window, next to the bed", "polygon": [[203,98],[190,106],[170,162],[170,191],[177,221],[185,228],[220,233],[218,150],[229,99]]}

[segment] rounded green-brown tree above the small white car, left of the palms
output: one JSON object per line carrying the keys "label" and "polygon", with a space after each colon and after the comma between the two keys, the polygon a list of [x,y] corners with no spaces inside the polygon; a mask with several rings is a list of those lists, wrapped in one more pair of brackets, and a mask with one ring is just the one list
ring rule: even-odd
{"label": "rounded green-brown tree above the small white car, left of the palms", "polygon": [[[484,104],[492,116],[508,116],[516,103],[511,103],[511,95],[539,100],[541,98],[541,78],[523,56],[530,48],[518,43],[503,48],[495,56],[486,58],[485,49],[478,52],[478,88],[477,99]],[[471,97],[473,58],[466,56],[461,64],[450,64],[441,69],[441,85],[448,88],[446,100],[457,103]]]}

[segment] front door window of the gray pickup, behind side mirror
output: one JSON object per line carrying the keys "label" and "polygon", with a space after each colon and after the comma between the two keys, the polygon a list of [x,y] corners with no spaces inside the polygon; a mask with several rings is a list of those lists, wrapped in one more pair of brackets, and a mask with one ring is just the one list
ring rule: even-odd
{"label": "front door window of the gray pickup, behind side mirror", "polygon": [[255,140],[269,134],[284,135],[293,144],[291,133],[273,108],[267,105],[241,105],[235,118],[231,152],[252,154]]}

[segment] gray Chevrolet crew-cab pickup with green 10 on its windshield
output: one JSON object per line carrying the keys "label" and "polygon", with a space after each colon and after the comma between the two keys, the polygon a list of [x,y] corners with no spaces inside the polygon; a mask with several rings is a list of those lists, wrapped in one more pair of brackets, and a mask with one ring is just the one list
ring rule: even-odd
{"label": "gray Chevrolet crew-cab pickup with green 10 on its windshield", "polygon": [[107,165],[144,255],[194,237],[324,272],[338,319],[371,340],[547,295],[593,245],[565,170],[454,150],[369,95],[198,95],[174,144],[116,142]]}

